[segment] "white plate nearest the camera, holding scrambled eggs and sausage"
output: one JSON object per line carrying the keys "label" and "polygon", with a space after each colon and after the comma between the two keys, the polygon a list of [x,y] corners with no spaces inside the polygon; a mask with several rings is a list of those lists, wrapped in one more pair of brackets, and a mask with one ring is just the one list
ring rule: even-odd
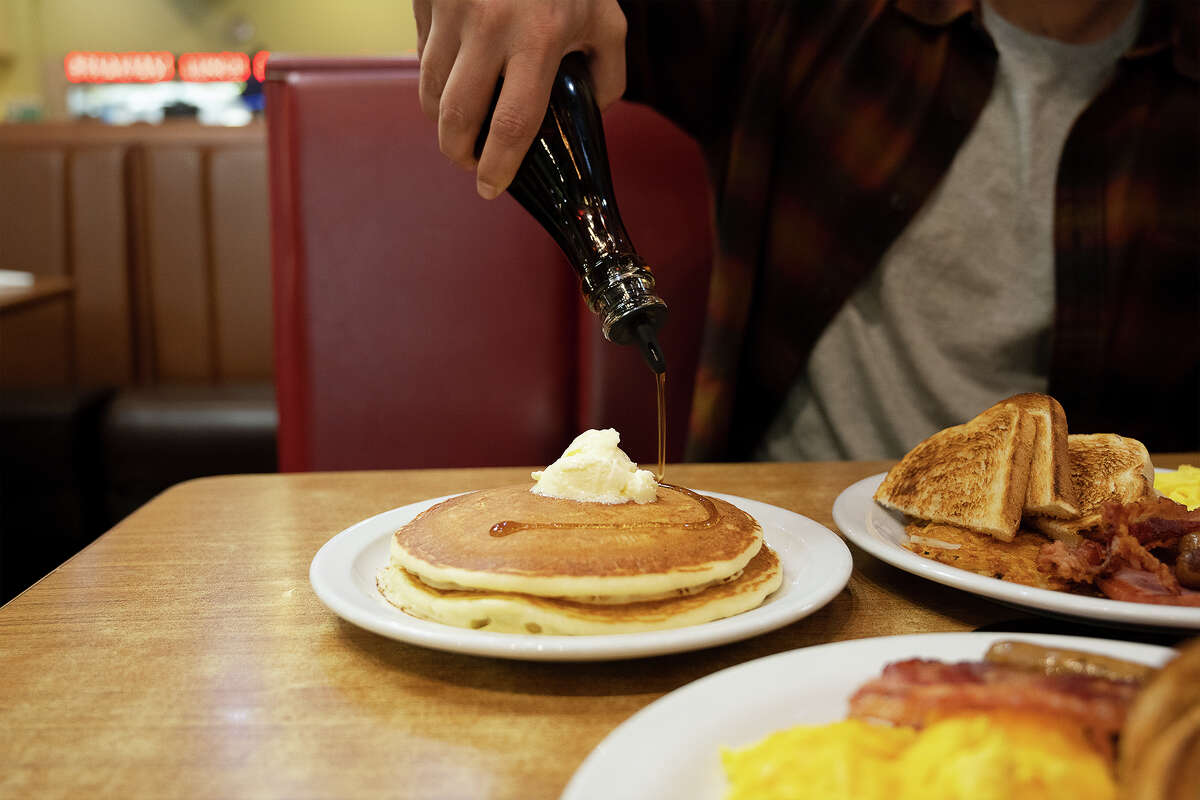
{"label": "white plate nearest the camera, holding scrambled eggs and sausage", "polygon": [[893,661],[978,661],[997,639],[1100,652],[1160,664],[1171,650],[1148,644],[1025,633],[924,633],[856,639],[780,652],[677,688],[601,741],[560,800],[720,800],[721,747],[773,730],[846,716],[850,696]]}

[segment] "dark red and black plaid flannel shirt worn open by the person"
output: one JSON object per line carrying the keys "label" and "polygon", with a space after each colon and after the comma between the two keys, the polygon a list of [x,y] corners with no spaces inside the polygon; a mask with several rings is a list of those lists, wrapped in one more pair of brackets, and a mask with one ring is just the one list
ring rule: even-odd
{"label": "dark red and black plaid flannel shirt worn open by the person", "polygon": [[[688,458],[746,459],[992,86],[973,0],[623,0],[626,98],[700,142],[716,248]],[[1055,197],[1051,395],[1200,450],[1200,2],[1147,0]]]}

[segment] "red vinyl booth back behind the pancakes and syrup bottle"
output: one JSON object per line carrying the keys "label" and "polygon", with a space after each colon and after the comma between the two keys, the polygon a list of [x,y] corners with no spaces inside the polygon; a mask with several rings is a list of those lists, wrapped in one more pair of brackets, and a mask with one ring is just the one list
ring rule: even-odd
{"label": "red vinyl booth back behind the pancakes and syrup bottle", "polygon": [[[540,465],[614,427],[653,463],[654,377],[604,341],[565,257],[438,151],[413,58],[268,68],[280,469]],[[622,217],[670,307],[667,457],[685,446],[712,265],[698,146],[618,103]]]}

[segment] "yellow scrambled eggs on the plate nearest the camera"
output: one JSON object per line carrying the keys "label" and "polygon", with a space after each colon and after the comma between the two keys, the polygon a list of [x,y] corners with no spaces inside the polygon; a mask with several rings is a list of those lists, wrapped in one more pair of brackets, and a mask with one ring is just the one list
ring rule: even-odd
{"label": "yellow scrambled eggs on the plate nearest the camera", "polygon": [[917,732],[846,720],[799,726],[721,754],[726,800],[1114,800],[1081,733],[1020,714],[973,714]]}

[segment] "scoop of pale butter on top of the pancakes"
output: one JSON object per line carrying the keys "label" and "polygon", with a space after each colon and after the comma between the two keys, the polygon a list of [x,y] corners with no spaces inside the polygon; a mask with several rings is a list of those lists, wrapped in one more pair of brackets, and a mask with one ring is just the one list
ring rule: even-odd
{"label": "scoop of pale butter on top of the pancakes", "polygon": [[558,461],[533,473],[530,492],[547,498],[583,503],[654,503],[658,481],[618,447],[620,434],[613,428],[584,431],[575,437]]}

